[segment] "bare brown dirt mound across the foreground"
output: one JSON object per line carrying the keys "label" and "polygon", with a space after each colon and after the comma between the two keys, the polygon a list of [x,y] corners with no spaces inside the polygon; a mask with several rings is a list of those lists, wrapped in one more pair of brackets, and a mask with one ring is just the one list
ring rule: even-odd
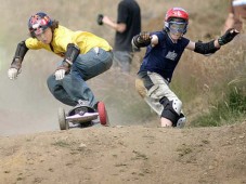
{"label": "bare brown dirt mound across the foreground", "polygon": [[245,183],[245,130],[92,127],[1,137],[0,183]]}

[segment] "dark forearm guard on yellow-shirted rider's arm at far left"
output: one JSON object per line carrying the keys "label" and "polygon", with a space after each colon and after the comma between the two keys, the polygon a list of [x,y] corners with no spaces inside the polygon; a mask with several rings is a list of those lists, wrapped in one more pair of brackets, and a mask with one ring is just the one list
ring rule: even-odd
{"label": "dark forearm guard on yellow-shirted rider's arm at far left", "polygon": [[17,48],[16,48],[16,51],[14,54],[14,58],[11,63],[11,68],[20,69],[22,67],[22,62],[28,50],[29,49],[26,47],[25,41],[22,41],[17,44]]}

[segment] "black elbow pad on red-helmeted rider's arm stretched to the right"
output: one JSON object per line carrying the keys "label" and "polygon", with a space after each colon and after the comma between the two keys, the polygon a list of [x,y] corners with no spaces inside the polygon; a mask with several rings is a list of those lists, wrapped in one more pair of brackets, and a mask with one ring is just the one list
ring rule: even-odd
{"label": "black elbow pad on red-helmeted rider's arm stretched to the right", "polygon": [[194,52],[197,52],[200,54],[212,54],[216,51],[218,51],[219,49],[220,48],[215,47],[215,40],[212,40],[207,43],[196,42]]}

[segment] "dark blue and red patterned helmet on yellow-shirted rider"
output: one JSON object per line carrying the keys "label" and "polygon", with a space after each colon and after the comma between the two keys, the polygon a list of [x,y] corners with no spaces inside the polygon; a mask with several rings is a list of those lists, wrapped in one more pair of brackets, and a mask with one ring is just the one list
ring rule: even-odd
{"label": "dark blue and red patterned helmet on yellow-shirted rider", "polygon": [[37,36],[43,32],[48,27],[51,27],[52,21],[51,18],[42,12],[36,13],[35,15],[30,16],[28,21],[28,28],[30,35]]}

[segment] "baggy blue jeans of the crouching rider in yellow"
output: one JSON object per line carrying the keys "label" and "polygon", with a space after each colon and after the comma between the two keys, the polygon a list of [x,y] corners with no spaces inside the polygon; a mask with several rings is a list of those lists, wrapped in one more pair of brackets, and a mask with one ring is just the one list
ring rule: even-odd
{"label": "baggy blue jeans of the crouching rider in yellow", "polygon": [[66,105],[75,106],[82,100],[93,107],[98,101],[86,81],[109,69],[112,63],[112,52],[102,49],[95,52],[91,49],[77,57],[70,73],[62,80],[55,80],[54,75],[51,75],[47,80],[48,88],[56,100]]}

